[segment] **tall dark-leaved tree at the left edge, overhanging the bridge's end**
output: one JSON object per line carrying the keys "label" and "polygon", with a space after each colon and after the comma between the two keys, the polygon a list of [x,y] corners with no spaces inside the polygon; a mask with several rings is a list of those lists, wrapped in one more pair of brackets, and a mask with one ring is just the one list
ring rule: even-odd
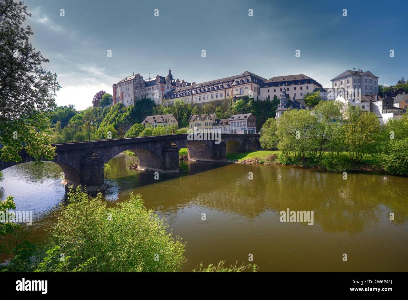
{"label": "tall dark-leaved tree at the left edge, overhanging the bridge's end", "polygon": [[52,137],[41,131],[49,127],[57,74],[42,67],[49,62],[29,43],[31,27],[23,27],[27,7],[22,2],[0,0],[0,159],[20,161],[22,144],[39,160],[55,156]]}

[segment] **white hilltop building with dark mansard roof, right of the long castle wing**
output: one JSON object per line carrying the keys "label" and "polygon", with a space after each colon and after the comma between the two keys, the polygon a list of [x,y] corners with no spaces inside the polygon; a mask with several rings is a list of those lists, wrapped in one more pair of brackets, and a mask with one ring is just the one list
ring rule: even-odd
{"label": "white hilltop building with dark mansard roof, right of the long castle wing", "polygon": [[322,84],[304,74],[276,76],[262,83],[258,99],[273,100],[273,96],[279,98],[282,90],[286,89],[291,100],[300,100],[307,93],[313,93],[315,89],[321,88]]}

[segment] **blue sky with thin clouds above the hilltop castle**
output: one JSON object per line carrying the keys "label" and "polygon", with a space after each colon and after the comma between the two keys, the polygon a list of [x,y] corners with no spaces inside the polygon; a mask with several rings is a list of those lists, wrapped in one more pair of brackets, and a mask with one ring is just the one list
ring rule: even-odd
{"label": "blue sky with thin clouds above the hilltop castle", "polygon": [[372,71],[380,84],[408,78],[407,0],[24,3],[31,43],[62,86],[57,104],[77,109],[101,89],[112,93],[133,71],[147,79],[166,76],[169,67],[174,78],[197,83],[250,71],[264,78],[303,73],[330,87],[353,68]]}

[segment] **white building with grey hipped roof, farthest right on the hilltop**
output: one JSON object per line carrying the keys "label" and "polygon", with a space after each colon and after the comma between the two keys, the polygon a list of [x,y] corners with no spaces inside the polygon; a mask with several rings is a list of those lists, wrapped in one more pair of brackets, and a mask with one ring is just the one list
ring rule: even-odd
{"label": "white building with grey hipped roof, farthest right on the hilltop", "polygon": [[370,71],[347,70],[331,80],[332,88],[344,89],[361,89],[363,95],[378,95],[378,77]]}

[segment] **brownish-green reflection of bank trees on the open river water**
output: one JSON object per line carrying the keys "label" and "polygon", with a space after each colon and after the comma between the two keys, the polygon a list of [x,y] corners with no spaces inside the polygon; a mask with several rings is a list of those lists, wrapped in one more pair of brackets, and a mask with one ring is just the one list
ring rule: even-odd
{"label": "brownish-green reflection of bank trees on the open river water", "polygon": [[[249,171],[253,180],[248,180]],[[407,178],[397,176],[348,173],[348,179],[343,180],[341,173],[240,164],[213,170],[211,178],[197,175],[183,178],[182,183],[171,181],[182,195],[178,201],[168,200],[161,208],[164,213],[194,200],[203,207],[249,218],[268,209],[277,213],[287,208],[313,210],[314,222],[324,230],[350,234],[389,218],[390,212],[399,216],[398,221],[392,221],[398,224],[408,216],[403,188]]]}

